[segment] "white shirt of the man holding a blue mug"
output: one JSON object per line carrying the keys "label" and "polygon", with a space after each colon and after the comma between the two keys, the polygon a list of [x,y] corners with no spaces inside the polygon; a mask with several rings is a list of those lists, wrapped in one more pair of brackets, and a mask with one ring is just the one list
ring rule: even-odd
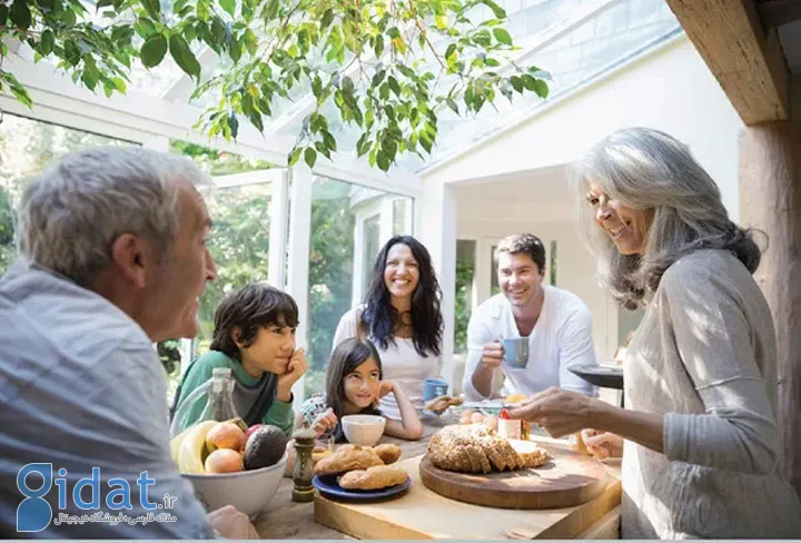
{"label": "white shirt of the man holding a blue mug", "polygon": [[[503,394],[532,395],[551,386],[595,395],[595,387],[567,369],[573,364],[596,364],[590,308],[575,294],[543,285],[544,300],[534,329],[528,335],[528,364],[524,368],[503,365]],[[521,337],[512,306],[503,293],[484,302],[467,326],[465,399],[485,398],[473,386],[473,372],[484,345],[498,338]],[[496,389],[493,383],[493,391]]]}

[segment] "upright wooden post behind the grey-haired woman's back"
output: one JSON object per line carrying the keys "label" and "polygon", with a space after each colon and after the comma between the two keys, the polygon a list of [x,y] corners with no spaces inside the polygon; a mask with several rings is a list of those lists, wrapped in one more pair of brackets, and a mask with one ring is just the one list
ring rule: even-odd
{"label": "upright wooden post behind the grey-haired woman's back", "polygon": [[740,216],[769,238],[754,277],[777,332],[783,473],[801,495],[801,127],[775,121],[742,129]]}

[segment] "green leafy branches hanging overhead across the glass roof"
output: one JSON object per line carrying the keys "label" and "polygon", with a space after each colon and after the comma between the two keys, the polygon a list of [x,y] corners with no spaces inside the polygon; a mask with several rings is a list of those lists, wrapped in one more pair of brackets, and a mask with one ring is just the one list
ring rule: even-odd
{"label": "green leafy branches hanging overhead across the glass roof", "polygon": [[[332,158],[338,117],[357,127],[358,155],[386,171],[400,154],[431,152],[441,108],[474,115],[498,95],[547,96],[547,73],[514,62],[506,22],[494,0],[97,0],[96,10],[80,0],[18,0],[0,3],[0,56],[16,38],[110,96],[126,91],[134,61],[152,68],[169,53],[198,81],[195,98],[217,100],[197,126],[226,139],[243,119],[264,131],[279,98],[308,89],[288,162]],[[201,73],[197,45],[230,69]],[[2,89],[30,106],[0,69]]]}

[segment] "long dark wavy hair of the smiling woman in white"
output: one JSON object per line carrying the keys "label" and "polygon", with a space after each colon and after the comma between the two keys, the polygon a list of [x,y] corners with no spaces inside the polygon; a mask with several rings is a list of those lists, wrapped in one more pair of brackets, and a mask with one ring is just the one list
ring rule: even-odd
{"label": "long dark wavy hair of the smiling woman in white", "polygon": [[412,329],[415,349],[421,356],[427,353],[439,356],[442,348],[443,317],[439,309],[442,289],[434,273],[428,249],[412,236],[395,236],[389,239],[378,253],[373,278],[370,279],[366,307],[362,312],[362,325],[368,336],[383,349],[389,342],[395,343],[395,325],[400,322],[400,315],[392,305],[392,295],[384,283],[387,255],[396,244],[406,245],[417,260],[419,280],[412,295]]}

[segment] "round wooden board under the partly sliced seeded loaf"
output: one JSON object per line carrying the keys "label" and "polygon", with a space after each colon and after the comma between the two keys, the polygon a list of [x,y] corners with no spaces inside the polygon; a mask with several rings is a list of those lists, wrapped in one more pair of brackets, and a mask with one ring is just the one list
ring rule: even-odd
{"label": "round wooden board under the partly sliced seeded loaf", "polygon": [[550,456],[542,467],[486,475],[439,470],[425,455],[421,480],[445,497],[501,509],[570,507],[603,492],[607,474],[599,461],[567,447],[541,446]]}

